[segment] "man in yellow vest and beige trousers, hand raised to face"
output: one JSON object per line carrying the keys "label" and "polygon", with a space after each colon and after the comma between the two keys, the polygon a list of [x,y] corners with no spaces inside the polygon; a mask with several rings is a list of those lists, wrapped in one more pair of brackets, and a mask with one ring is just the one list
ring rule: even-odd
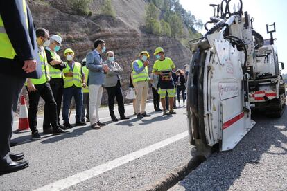
{"label": "man in yellow vest and beige trousers, hand raised to face", "polygon": [[[146,113],[146,98],[148,97],[148,51],[141,51],[139,59],[132,62],[132,79],[136,91],[135,112],[137,118],[142,119],[150,114]],[[140,108],[141,103],[141,108]]]}

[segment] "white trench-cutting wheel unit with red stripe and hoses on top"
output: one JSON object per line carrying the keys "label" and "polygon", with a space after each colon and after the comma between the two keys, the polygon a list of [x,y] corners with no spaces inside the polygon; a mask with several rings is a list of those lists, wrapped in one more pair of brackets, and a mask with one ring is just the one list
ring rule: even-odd
{"label": "white trench-cutting wheel unit with red stripe and hoses on top", "polygon": [[[214,17],[205,24],[207,33],[189,42],[189,138],[205,157],[218,147],[220,151],[233,149],[255,125],[250,118],[254,105],[249,80],[257,84],[253,89],[260,89],[255,78],[259,77],[256,55],[261,55],[264,40],[253,29],[248,12],[243,12],[242,1],[234,12],[230,2],[211,4]],[[207,28],[209,24],[213,26]]]}

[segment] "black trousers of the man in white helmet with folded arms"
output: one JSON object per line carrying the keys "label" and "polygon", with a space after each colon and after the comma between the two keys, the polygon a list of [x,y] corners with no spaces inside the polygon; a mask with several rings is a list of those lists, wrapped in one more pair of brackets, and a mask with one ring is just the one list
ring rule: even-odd
{"label": "black trousers of the man in white helmet with folded arms", "polygon": [[[51,78],[50,86],[53,92],[55,102],[57,104],[57,122],[60,123],[59,115],[61,111],[62,97],[64,91],[64,80],[62,78]],[[45,103],[43,129],[51,127],[51,122],[52,118],[50,116],[49,106],[47,103]]]}

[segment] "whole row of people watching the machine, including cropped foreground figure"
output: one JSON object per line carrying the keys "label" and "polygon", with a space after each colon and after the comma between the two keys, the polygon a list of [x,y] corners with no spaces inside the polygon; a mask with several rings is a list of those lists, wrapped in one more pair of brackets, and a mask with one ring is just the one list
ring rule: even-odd
{"label": "whole row of people watching the machine, including cropped foreground figure", "polygon": [[[71,99],[76,104],[76,126],[90,122],[92,129],[101,129],[106,124],[100,122],[98,109],[101,106],[103,88],[107,89],[109,111],[112,121],[118,121],[114,114],[114,99],[118,103],[121,120],[125,116],[121,73],[123,69],[114,61],[114,52],[107,51],[107,60],[102,55],[106,51],[105,41],[97,39],[94,50],[87,53],[82,63],[75,61],[71,48],[64,50],[64,59],[58,55],[62,44],[59,35],[50,37],[45,28],[34,29],[31,12],[24,0],[1,1],[0,3],[0,84],[6,91],[0,94],[0,174],[14,172],[28,167],[23,161],[24,153],[10,152],[13,111],[15,111],[24,84],[28,91],[28,121],[33,140],[40,140],[37,130],[37,111],[40,97],[43,98],[45,134],[67,134],[72,125],[69,122]],[[150,55],[147,51],[139,53],[132,62],[132,87],[135,89],[134,113],[137,118],[148,117],[146,99],[149,82],[153,87],[155,110],[162,102],[164,115],[175,114],[175,85],[177,95],[183,91],[185,79],[182,71],[175,71],[171,58],[165,57],[164,49],[158,47],[154,53],[156,61],[152,74],[148,74]],[[175,77],[173,75],[175,74]],[[176,79],[176,80],[174,80]],[[177,96],[178,97],[178,96]],[[182,94],[184,98],[184,94]],[[166,100],[168,100],[166,102]],[[178,100],[180,101],[180,100]],[[60,124],[60,109],[64,124]],[[169,107],[168,107],[169,105]],[[85,110],[87,113],[85,114]]]}

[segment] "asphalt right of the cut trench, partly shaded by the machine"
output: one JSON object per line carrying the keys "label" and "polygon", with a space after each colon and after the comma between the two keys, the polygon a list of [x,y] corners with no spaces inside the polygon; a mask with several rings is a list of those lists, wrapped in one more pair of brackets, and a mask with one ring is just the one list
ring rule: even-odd
{"label": "asphalt right of the cut trench, partly shaded by the machine", "polygon": [[255,127],[230,152],[217,152],[170,190],[287,190],[287,109],[253,115]]}

